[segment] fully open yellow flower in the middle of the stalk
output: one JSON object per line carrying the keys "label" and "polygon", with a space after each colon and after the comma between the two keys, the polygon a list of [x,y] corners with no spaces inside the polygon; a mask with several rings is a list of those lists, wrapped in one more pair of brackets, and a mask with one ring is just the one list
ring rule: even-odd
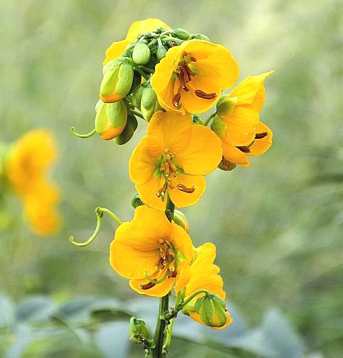
{"label": "fully open yellow flower in the middle of the stalk", "polygon": [[191,115],[156,112],[134,149],[129,172],[141,200],[165,210],[165,194],[179,208],[195,204],[206,188],[204,175],[222,159],[220,139],[193,124]]}

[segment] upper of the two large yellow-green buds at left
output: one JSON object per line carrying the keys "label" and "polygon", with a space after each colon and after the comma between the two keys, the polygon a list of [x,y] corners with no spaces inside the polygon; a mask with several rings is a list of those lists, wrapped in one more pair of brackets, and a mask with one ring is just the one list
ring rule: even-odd
{"label": "upper of the two large yellow-green buds at left", "polygon": [[130,91],[134,71],[125,60],[112,60],[104,66],[104,78],[100,85],[100,99],[106,103],[122,100]]}

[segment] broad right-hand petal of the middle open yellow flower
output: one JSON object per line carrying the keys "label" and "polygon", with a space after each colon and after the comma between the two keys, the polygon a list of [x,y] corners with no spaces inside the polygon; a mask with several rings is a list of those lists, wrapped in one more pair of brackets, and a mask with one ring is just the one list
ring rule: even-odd
{"label": "broad right-hand petal of the middle open yellow flower", "polygon": [[222,160],[219,137],[201,124],[192,124],[187,148],[176,158],[176,164],[187,174],[206,175]]}

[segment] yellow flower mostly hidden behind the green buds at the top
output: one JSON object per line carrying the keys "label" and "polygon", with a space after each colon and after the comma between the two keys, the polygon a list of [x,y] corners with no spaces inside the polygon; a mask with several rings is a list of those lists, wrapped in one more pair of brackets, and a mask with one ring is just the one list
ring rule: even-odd
{"label": "yellow flower mostly hidden behind the green buds at the top", "polygon": [[132,23],[125,40],[117,41],[110,45],[108,49],[106,49],[106,58],[104,60],[103,65],[106,65],[106,63],[110,62],[110,60],[119,58],[119,56],[125,51],[126,47],[130,45],[130,43],[137,40],[138,34],[143,34],[144,32],[156,30],[157,27],[165,27],[167,30],[171,30],[171,27],[158,19],[145,19]]}

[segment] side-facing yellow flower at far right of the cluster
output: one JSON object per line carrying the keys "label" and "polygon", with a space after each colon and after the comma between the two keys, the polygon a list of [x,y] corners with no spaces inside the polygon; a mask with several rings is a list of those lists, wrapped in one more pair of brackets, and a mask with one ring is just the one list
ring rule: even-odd
{"label": "side-facing yellow flower at far right of the cluster", "polygon": [[222,166],[250,166],[248,156],[261,155],[272,145],[272,131],[259,122],[265,101],[263,81],[274,71],[249,76],[217,102],[211,128],[222,140]]}

